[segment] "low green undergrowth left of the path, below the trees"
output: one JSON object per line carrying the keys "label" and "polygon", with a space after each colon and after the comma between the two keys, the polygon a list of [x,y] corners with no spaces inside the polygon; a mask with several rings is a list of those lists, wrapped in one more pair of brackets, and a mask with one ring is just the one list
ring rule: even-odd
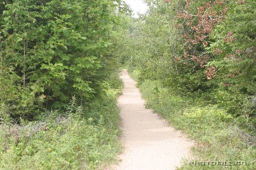
{"label": "low green undergrowth left of the path, below the trees", "polygon": [[122,82],[117,74],[111,79],[103,83],[103,95],[84,108],[73,98],[65,113],[45,112],[38,121],[0,124],[0,169],[93,170],[115,162],[121,149],[116,97]]}

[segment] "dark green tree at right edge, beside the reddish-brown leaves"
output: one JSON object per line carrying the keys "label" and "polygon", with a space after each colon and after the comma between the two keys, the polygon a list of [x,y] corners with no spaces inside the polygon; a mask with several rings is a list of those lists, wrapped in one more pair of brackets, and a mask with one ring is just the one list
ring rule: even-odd
{"label": "dark green tree at right edge, beside the reddish-brown leaves", "polygon": [[[208,63],[219,69],[221,81],[228,89],[240,93],[255,94],[255,16],[256,2],[247,0],[243,4],[230,1],[227,18],[218,24],[210,35],[209,52],[221,51]],[[224,39],[223,39],[224,37]]]}

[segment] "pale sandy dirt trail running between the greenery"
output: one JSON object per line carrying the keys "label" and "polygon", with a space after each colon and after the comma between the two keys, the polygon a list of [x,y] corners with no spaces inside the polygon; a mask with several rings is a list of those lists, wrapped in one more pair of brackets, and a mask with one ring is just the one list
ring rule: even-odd
{"label": "pale sandy dirt trail running between the greenery", "polygon": [[145,109],[144,100],[129,77],[122,71],[123,94],[118,99],[121,109],[124,152],[119,165],[108,170],[174,170],[188,158],[192,142],[181,132]]}

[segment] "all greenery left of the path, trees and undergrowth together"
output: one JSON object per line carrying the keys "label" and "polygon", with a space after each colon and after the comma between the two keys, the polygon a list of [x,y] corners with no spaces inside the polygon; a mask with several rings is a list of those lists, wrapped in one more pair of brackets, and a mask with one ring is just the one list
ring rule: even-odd
{"label": "all greenery left of the path, trees and undergrowth together", "polygon": [[122,0],[0,0],[0,169],[116,161],[129,15]]}

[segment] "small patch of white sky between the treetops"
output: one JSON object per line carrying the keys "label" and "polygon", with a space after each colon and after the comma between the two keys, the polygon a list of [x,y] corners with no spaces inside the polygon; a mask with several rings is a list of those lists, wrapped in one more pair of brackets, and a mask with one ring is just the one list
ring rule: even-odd
{"label": "small patch of white sky between the treetops", "polygon": [[137,12],[145,13],[147,10],[147,5],[143,0],[124,0],[130,8],[133,10],[134,17],[138,17]]}

